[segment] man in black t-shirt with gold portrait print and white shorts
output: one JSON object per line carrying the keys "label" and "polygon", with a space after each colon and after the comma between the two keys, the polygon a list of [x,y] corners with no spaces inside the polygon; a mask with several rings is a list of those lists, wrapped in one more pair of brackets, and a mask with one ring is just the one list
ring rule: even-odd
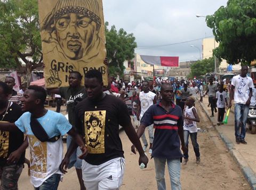
{"label": "man in black t-shirt with gold portrait print and white shorts", "polygon": [[[140,140],[131,123],[125,103],[103,93],[102,74],[90,70],[85,75],[87,98],[76,106],[76,127],[84,137],[89,154],[82,162],[82,172],[87,189],[119,189],[124,174],[124,152],[119,138],[119,125],[140,153],[139,165],[147,167]],[[69,156],[77,145],[72,142],[61,168],[67,168]],[[115,169],[113,169],[115,168]]]}

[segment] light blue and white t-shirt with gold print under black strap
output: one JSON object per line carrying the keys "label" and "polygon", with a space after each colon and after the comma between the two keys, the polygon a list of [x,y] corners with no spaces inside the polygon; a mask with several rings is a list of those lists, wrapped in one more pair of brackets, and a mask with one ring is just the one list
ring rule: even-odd
{"label": "light blue and white t-shirt with gold print under black strap", "polygon": [[[39,141],[31,130],[30,116],[29,112],[22,114],[15,125],[28,136],[30,181],[33,186],[39,187],[53,174],[63,175],[59,169],[63,156],[63,144],[61,138],[55,142]],[[51,110],[37,120],[50,138],[65,135],[72,128],[65,116]]]}

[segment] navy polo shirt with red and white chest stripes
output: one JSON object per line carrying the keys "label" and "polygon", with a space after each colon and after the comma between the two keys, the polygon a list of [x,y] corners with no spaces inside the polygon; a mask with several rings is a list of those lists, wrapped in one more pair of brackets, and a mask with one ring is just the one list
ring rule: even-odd
{"label": "navy polo shirt with red and white chest stripes", "polygon": [[140,123],[145,126],[154,124],[152,157],[166,159],[183,157],[178,135],[178,126],[183,127],[182,111],[179,106],[173,103],[172,108],[167,111],[162,107],[160,101],[148,108]]}

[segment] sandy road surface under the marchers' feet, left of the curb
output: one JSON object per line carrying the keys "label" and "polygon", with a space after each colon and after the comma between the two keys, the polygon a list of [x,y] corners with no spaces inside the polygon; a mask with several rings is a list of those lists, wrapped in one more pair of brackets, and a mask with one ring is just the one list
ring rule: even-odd
{"label": "sandy road surface under the marchers' feet, left of the curb", "polygon": [[[199,105],[197,105],[197,110],[201,117],[201,122],[198,124],[198,127],[201,128],[201,132],[198,133],[201,163],[199,165],[195,163],[196,159],[190,143],[189,161],[186,166],[182,165],[181,170],[182,189],[251,189],[243,177],[241,170],[230,156],[225,144],[220,139],[217,131]],[[157,189],[154,160],[151,159],[149,161],[148,168],[141,170],[138,166],[138,155],[130,152],[131,143],[125,132],[120,132],[120,136],[126,159],[125,175],[121,189]],[[148,150],[146,153],[148,154]],[[29,155],[28,151],[27,155]],[[166,186],[167,189],[170,189],[170,179],[167,169],[165,173]],[[19,189],[33,189],[27,176],[26,167],[19,180]],[[68,174],[64,176],[59,189],[79,189],[74,169],[70,169]]]}

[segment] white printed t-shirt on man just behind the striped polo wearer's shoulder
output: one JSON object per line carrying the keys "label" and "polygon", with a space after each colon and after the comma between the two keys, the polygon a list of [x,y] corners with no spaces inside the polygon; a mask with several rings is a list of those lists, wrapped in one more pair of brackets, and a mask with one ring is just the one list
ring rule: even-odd
{"label": "white printed t-shirt on man just behind the striped polo wearer's shoulder", "polygon": [[156,94],[154,92],[149,91],[148,93],[140,92],[139,98],[140,98],[140,119],[144,115],[144,113],[148,110],[148,108],[154,104]]}

